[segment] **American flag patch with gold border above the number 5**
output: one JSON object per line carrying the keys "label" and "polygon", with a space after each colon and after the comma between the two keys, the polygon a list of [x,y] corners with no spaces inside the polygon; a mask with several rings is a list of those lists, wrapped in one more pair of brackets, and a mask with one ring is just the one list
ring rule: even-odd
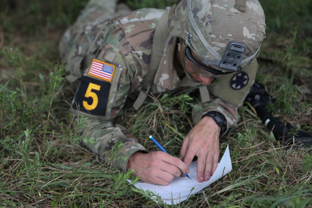
{"label": "American flag patch with gold border above the number 5", "polygon": [[110,82],[114,71],[114,65],[93,59],[88,75]]}

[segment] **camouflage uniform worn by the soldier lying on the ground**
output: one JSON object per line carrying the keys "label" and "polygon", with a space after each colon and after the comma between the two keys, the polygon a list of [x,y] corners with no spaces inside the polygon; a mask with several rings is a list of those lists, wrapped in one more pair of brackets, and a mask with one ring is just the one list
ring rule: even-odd
{"label": "camouflage uniform worn by the soldier lying on the ground", "polygon": [[[238,12],[231,11],[233,14]],[[154,8],[131,12],[123,5],[116,7],[116,1],[91,0],[60,42],[61,57],[70,72],[67,80],[73,82],[81,77],[72,110],[88,117],[82,136],[95,141],[89,148],[101,160],[106,159],[117,141],[122,141],[124,149],[118,156],[126,156],[127,160],[115,160],[111,165],[124,172],[129,157],[136,151],[145,151],[145,148],[126,128],[114,125],[112,120],[122,111],[127,97],[136,95],[140,89],[149,70],[154,31],[164,12]],[[248,38],[254,37],[251,35],[246,40]],[[165,49],[150,89],[152,93],[202,85],[188,76],[181,76],[184,70],[178,69],[174,62],[177,40],[170,35],[164,40]],[[105,74],[98,74],[92,69],[95,65],[108,70]],[[235,127],[239,119],[237,108],[249,92],[256,70],[254,61],[243,74],[215,78],[208,86],[212,99],[199,104],[200,112],[193,109],[193,122],[198,123],[209,111],[217,111],[227,119],[227,130]]]}

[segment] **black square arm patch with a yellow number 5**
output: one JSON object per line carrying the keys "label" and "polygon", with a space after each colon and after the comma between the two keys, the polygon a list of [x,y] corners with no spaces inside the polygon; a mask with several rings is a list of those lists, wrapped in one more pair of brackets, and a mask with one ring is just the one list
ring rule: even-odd
{"label": "black square arm patch with a yellow number 5", "polygon": [[72,107],[77,109],[79,105],[82,112],[105,116],[109,94],[109,82],[82,76]]}

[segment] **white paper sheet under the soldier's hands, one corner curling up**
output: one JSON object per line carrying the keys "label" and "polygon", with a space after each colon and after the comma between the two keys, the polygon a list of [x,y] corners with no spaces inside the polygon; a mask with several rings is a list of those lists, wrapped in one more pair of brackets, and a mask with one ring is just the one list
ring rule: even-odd
{"label": "white paper sheet under the soldier's hands, one corner curling up", "polygon": [[216,171],[213,173],[209,181],[204,181],[202,183],[197,181],[196,162],[197,161],[192,162],[189,166],[190,172],[188,173],[188,176],[191,179],[187,177],[175,177],[168,186],[161,186],[144,182],[137,182],[134,184],[134,186],[144,191],[149,190],[154,192],[160,196],[163,202],[166,204],[178,204],[186,200],[188,196],[196,194],[197,192],[201,191],[232,171],[229,146],[227,146],[227,149],[225,150]]}

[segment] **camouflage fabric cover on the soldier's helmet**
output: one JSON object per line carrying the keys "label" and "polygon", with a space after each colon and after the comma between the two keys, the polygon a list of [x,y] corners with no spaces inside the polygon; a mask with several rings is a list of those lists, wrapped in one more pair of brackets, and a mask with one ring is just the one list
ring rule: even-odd
{"label": "camouflage fabric cover on the soldier's helmet", "polygon": [[228,42],[243,43],[244,69],[265,37],[265,15],[258,0],[246,0],[246,12],[238,11],[235,4],[236,0],[182,0],[169,17],[170,35],[182,38],[201,60],[221,60]]}

